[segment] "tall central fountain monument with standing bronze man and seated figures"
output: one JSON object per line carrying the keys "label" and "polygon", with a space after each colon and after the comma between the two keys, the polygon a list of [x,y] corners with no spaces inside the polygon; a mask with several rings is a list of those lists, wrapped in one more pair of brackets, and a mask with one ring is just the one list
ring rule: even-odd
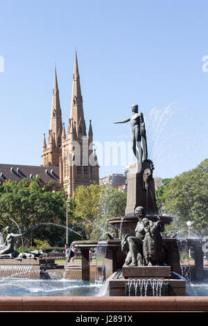
{"label": "tall central fountain monument with standing bronze man and seated figures", "polygon": [[[110,295],[186,295],[186,282],[180,277],[177,241],[162,237],[165,225],[173,217],[158,215],[154,164],[148,159],[144,117],[136,104],[132,105],[132,112],[130,118],[116,122],[131,122],[132,151],[137,162],[130,164],[128,171],[125,216],[108,219],[122,239],[108,239],[103,244],[105,279],[115,273],[109,281]],[[89,248],[98,244],[101,248],[102,241],[75,241],[74,244],[82,252],[82,278],[89,280]],[[195,267],[196,275],[202,277],[202,250],[200,246],[194,248],[200,260]]]}

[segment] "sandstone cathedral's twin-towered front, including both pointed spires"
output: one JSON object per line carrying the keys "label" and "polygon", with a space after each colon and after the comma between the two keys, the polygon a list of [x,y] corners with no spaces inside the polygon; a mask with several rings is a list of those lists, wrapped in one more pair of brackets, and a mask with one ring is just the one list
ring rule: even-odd
{"label": "sandstone cathedral's twin-towered front, including both pointed spires", "polygon": [[73,197],[76,187],[99,183],[99,166],[93,148],[92,121],[86,131],[77,53],[73,69],[71,108],[67,128],[62,123],[58,79],[55,69],[48,146],[44,134],[43,166],[59,167],[59,187]]}

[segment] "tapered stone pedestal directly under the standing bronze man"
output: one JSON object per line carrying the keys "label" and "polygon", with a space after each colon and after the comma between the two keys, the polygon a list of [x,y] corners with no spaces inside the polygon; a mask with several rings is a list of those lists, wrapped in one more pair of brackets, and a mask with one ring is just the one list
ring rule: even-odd
{"label": "tapered stone pedestal directly under the standing bronze man", "polygon": [[151,165],[153,164],[150,160],[130,164],[127,178],[128,190],[125,215],[134,215],[137,206],[143,206],[146,214],[158,213],[155,200],[154,179],[152,177],[149,178],[147,190],[144,182],[144,171],[146,169],[151,170]]}

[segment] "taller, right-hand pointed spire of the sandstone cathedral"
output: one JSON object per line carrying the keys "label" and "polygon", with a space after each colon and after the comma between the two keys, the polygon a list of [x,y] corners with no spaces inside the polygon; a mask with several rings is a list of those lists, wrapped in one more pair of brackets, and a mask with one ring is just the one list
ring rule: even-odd
{"label": "taller, right-hand pointed spire of the sandstone cathedral", "polygon": [[80,87],[77,53],[75,53],[73,67],[70,119],[73,119],[73,121],[76,122],[76,135],[79,135],[79,137],[86,136],[85,117],[83,112],[83,96]]}

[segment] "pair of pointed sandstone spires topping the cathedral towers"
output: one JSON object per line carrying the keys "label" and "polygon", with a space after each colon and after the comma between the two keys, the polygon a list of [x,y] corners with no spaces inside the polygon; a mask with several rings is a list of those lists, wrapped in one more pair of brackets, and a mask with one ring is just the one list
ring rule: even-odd
{"label": "pair of pointed sandstone spires topping the cathedral towers", "polygon": [[[68,123],[68,139],[76,140],[81,137],[87,137],[85,117],[83,111],[83,96],[80,87],[80,75],[78,71],[77,53],[73,68],[73,85],[71,93],[71,108]],[[89,123],[89,139],[92,141],[92,123]],[[53,97],[51,106],[51,121],[49,129],[49,148],[60,148],[62,141],[67,139],[64,123],[62,123],[62,111],[60,108],[60,96],[58,89],[58,78],[55,69],[53,83]],[[46,151],[46,138],[44,135],[43,151]],[[53,162],[51,162],[53,165]]]}

